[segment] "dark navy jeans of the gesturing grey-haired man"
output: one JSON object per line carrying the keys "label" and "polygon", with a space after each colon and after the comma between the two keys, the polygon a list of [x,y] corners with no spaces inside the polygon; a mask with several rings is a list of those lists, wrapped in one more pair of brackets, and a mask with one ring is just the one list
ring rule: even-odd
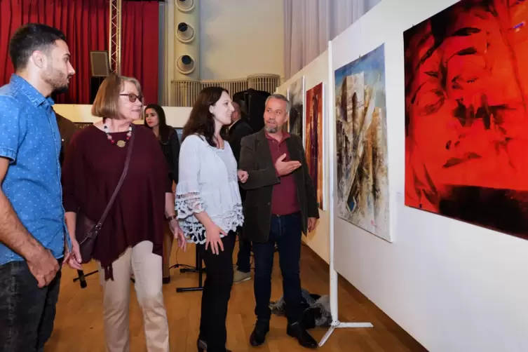
{"label": "dark navy jeans of the gesturing grey-haired man", "polygon": [[269,320],[271,310],[271,271],[275,244],[278,247],[280,272],[283,274],[283,291],[288,323],[302,319],[301,262],[301,215],[271,215],[269,240],[266,243],[253,241],[255,256],[255,315],[258,320]]}

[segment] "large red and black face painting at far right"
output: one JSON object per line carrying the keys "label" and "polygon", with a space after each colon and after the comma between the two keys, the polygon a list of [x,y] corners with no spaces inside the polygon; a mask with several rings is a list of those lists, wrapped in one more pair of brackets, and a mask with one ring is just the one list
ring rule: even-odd
{"label": "large red and black face painting at far right", "polygon": [[404,33],[405,205],[528,239],[528,1]]}

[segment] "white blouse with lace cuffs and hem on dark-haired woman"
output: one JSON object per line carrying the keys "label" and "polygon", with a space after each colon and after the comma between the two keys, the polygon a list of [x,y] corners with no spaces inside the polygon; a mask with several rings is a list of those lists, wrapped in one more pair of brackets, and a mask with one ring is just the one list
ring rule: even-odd
{"label": "white blouse with lace cuffs and hem on dark-haired woman", "polygon": [[[212,147],[205,137],[190,135],[180,147],[176,210],[189,242],[205,243],[205,228],[195,213],[207,212],[225,233],[244,221],[237,165],[228,142]],[[221,237],[223,237],[221,235]]]}

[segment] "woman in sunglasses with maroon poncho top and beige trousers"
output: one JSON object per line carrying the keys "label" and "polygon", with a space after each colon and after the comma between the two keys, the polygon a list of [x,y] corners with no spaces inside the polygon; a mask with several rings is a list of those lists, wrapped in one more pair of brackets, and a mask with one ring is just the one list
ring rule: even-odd
{"label": "woman in sunglasses with maroon poncho top and beige trousers", "polygon": [[115,74],[107,77],[92,107],[93,116],[102,120],[76,134],[64,163],[66,223],[74,248],[72,261],[79,264],[76,217],[82,212],[93,222],[100,220],[132,148],[128,172],[93,248],[104,292],[104,335],[109,352],[129,350],[131,273],[142,309],[147,351],[169,351],[160,270],[165,217],[180,247],[186,248],[158,141],[151,130],[134,124],[142,117],[142,100],[136,79]]}

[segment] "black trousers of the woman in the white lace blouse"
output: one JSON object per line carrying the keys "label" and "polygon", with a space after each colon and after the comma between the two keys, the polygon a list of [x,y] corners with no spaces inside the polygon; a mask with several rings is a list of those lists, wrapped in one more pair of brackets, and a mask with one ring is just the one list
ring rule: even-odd
{"label": "black trousers of the woman in the white lace blouse", "polygon": [[233,286],[233,248],[236,233],[231,231],[222,238],[224,251],[213,255],[205,244],[198,250],[205,263],[205,283],[202,292],[202,312],[200,320],[200,339],[208,345],[208,352],[226,351],[227,304]]}

